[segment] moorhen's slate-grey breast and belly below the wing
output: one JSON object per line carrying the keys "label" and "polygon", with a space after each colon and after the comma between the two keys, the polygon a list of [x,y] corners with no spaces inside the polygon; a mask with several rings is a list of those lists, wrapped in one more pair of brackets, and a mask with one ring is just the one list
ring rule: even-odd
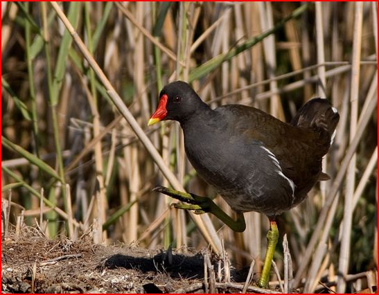
{"label": "moorhen's slate-grey breast and belly below the wing", "polygon": [[201,134],[184,132],[188,160],[233,210],[276,215],[292,206],[294,184],[262,143],[204,125]]}

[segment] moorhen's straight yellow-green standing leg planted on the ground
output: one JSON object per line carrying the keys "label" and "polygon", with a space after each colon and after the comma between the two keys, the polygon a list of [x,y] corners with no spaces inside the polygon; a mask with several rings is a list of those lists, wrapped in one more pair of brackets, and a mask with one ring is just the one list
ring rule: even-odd
{"label": "moorhen's straight yellow-green standing leg planted on the ground", "polygon": [[265,288],[268,285],[270,279],[270,269],[272,258],[274,257],[274,251],[279,239],[278,226],[276,226],[275,220],[270,220],[270,231],[267,232],[267,250],[265,262],[263,263],[263,269],[261,278],[258,280],[258,286]]}

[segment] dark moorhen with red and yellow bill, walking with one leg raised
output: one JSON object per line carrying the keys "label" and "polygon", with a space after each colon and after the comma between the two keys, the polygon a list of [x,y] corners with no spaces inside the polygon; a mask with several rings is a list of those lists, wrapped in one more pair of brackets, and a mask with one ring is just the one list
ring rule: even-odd
{"label": "dark moorhen with red and yellow bill, walking with one leg raised", "polygon": [[234,221],[211,199],[170,188],[156,191],[188,204],[177,208],[213,213],[234,231],[245,230],[243,212],[264,213],[270,220],[267,252],[258,285],[268,283],[279,232],[275,217],[300,204],[318,180],[340,118],[328,100],[309,100],[290,124],[245,105],[211,109],[186,83],[170,83],[159,94],[148,125],[177,120],[184,132],[187,157],[237,213]]}

